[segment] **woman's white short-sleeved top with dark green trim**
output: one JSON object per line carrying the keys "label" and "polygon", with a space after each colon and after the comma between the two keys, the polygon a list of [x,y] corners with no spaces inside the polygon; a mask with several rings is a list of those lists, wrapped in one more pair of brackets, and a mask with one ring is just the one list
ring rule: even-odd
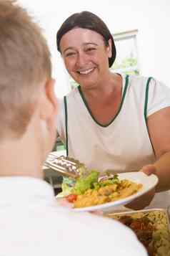
{"label": "woman's white short-sleeved top with dark green trim", "polygon": [[109,125],[95,120],[81,87],[66,96],[65,104],[64,100],[59,103],[56,120],[59,136],[66,143],[69,156],[89,169],[138,171],[156,160],[146,118],[170,106],[170,89],[148,77],[121,76],[121,106]]}

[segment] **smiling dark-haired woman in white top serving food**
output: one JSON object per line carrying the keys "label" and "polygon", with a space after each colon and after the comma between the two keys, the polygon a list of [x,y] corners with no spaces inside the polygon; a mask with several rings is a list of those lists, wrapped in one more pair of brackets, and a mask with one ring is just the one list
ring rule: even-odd
{"label": "smiling dark-haired woman in white top serving food", "polygon": [[[111,72],[114,39],[89,11],[69,16],[56,43],[66,70],[79,84],[59,104],[57,131],[67,155],[100,172],[156,173],[156,191],[169,189],[169,88],[152,77]],[[150,204],[154,189],[149,193],[138,200],[138,209]],[[164,206],[169,204],[169,192],[161,196]]]}

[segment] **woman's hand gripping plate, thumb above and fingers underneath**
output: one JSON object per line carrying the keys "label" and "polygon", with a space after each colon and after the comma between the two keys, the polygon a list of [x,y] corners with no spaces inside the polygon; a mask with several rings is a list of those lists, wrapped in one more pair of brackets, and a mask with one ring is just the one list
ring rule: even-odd
{"label": "woman's hand gripping plate, thumb above and fingers underneath", "polygon": [[[146,175],[151,175],[156,173],[156,168],[154,165],[149,164],[147,166],[144,166],[140,171],[143,171]],[[129,204],[126,204],[126,207],[134,210],[144,209],[144,207],[148,207],[151,203],[152,199],[155,195],[155,188],[151,189],[149,192],[144,194],[143,196],[138,197],[134,201],[132,201]]]}

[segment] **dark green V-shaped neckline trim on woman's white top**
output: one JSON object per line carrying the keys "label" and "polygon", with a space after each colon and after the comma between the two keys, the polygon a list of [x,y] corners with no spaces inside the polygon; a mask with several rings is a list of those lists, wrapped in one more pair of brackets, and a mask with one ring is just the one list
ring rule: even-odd
{"label": "dark green V-shaped neckline trim on woman's white top", "polygon": [[101,127],[108,127],[109,125],[111,125],[111,123],[114,122],[114,120],[116,119],[117,115],[119,115],[120,111],[121,111],[121,108],[122,108],[122,105],[124,103],[124,98],[125,98],[125,95],[126,95],[126,90],[127,90],[127,87],[129,85],[129,75],[126,75],[126,82],[125,82],[125,86],[124,86],[124,93],[123,93],[123,96],[122,96],[122,99],[121,99],[121,105],[119,107],[119,110],[118,112],[116,113],[116,115],[114,116],[114,118],[111,120],[111,122],[109,122],[107,125],[102,125],[101,123],[99,123],[93,116],[93,114],[91,113],[91,110],[89,108],[89,105],[87,104],[86,102],[86,99],[84,98],[84,94],[81,90],[81,86],[79,85],[78,86],[78,90],[79,90],[79,93],[81,95],[81,98],[82,100],[84,101],[84,105],[86,105],[86,108],[87,110],[89,111],[89,114],[91,115],[91,118],[94,120],[94,122],[96,122],[98,125],[100,125]]}

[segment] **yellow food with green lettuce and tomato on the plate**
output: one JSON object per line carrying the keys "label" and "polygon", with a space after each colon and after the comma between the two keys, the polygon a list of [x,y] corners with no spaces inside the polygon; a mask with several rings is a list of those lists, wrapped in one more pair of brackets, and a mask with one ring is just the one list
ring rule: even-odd
{"label": "yellow food with green lettuce and tomato on the plate", "polygon": [[75,208],[91,207],[131,196],[141,187],[142,184],[127,179],[120,180],[118,174],[106,174],[100,178],[99,172],[92,170],[76,180],[64,178],[59,196],[64,196]]}

